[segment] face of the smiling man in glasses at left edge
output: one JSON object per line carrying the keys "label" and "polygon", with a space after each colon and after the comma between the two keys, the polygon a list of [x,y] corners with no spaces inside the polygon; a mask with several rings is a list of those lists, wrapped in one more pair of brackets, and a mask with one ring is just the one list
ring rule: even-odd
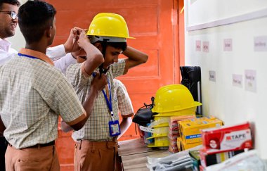
{"label": "face of the smiling man in glasses at left edge", "polygon": [[[18,6],[12,4],[2,4],[0,11],[14,11],[18,14]],[[18,25],[18,18],[12,19],[6,12],[0,12],[0,37],[5,39],[15,35],[15,27]]]}

